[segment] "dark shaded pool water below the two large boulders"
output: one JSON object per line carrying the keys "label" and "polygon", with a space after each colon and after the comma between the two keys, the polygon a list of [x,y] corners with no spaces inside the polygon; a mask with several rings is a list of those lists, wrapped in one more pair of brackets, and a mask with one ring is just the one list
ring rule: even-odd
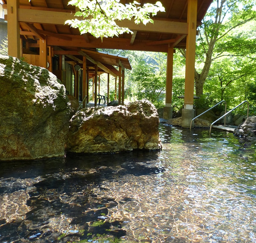
{"label": "dark shaded pool water below the two large boulders", "polygon": [[[93,188],[127,174],[163,172],[150,162],[157,158],[158,152],[134,151],[2,163],[0,195],[15,194],[17,204],[9,198],[3,202],[9,211],[1,215],[0,242],[68,242],[89,240],[95,235],[113,239],[124,236],[125,222],[107,216],[109,208],[118,204],[115,198],[99,199]],[[123,197],[121,203],[131,200]]]}

